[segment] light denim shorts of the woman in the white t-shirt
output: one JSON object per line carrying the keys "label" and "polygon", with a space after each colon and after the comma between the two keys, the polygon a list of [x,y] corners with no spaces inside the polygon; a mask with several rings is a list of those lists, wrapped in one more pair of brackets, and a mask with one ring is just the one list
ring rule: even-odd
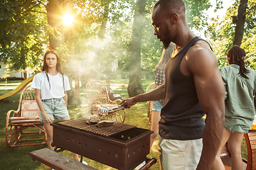
{"label": "light denim shorts of the woman in the white t-shirt", "polygon": [[[62,120],[68,118],[68,109],[65,106],[65,101],[63,98],[51,98],[42,100],[43,101],[43,108],[45,109],[46,113],[50,115],[52,120]],[[40,111],[39,113],[39,121],[44,122],[43,115]]]}

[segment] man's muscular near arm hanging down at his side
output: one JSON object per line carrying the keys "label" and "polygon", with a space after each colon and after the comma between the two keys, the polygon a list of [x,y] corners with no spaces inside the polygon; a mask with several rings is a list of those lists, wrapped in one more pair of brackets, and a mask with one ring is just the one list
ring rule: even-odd
{"label": "man's muscular near arm hanging down at his side", "polygon": [[197,170],[210,170],[223,135],[225,91],[214,53],[206,42],[196,44],[188,52],[186,61],[188,70],[193,74],[199,103],[206,113],[203,151]]}

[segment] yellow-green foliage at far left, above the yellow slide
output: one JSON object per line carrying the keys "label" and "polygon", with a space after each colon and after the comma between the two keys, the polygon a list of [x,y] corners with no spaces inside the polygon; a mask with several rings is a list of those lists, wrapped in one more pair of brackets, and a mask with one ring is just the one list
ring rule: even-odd
{"label": "yellow-green foliage at far left, above the yellow slide", "polygon": [[46,43],[46,1],[0,3],[0,60],[10,69],[34,69]]}

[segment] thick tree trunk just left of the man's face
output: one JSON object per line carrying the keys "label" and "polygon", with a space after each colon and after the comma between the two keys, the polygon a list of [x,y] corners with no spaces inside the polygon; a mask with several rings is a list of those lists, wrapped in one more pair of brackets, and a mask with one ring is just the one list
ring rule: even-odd
{"label": "thick tree trunk just left of the man's face", "polygon": [[144,26],[146,0],[137,0],[134,13],[134,25],[132,29],[132,41],[130,44],[130,65],[129,65],[129,97],[144,94],[142,87],[141,71],[141,42],[142,28]]}

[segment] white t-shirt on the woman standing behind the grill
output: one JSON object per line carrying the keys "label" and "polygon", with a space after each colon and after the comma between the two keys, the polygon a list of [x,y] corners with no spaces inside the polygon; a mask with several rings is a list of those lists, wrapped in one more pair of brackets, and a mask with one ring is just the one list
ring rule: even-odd
{"label": "white t-shirt on the woman standing behind the grill", "polygon": [[[68,81],[68,77],[64,76],[64,86],[65,91],[70,90],[70,84]],[[63,86],[63,76],[58,72],[55,76],[51,76],[48,74],[49,81],[46,76],[46,72],[41,72],[33,77],[33,81],[31,84],[31,88],[33,89],[41,89],[41,99],[50,99],[50,98],[62,98],[65,96],[64,94],[64,86]]]}

